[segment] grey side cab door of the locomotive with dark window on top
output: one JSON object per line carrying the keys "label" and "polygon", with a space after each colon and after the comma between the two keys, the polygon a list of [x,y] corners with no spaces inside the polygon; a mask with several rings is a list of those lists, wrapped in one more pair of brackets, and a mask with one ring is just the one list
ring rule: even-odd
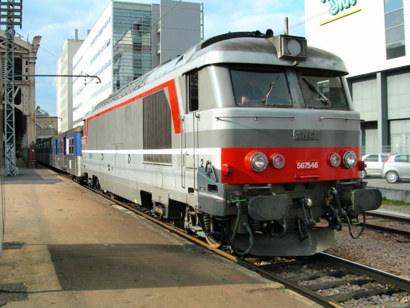
{"label": "grey side cab door of the locomotive with dark window on top", "polygon": [[[183,117],[181,157],[185,160],[185,175],[182,174],[182,187],[189,193],[197,190],[196,170],[198,168],[198,72],[188,76],[188,111]],[[185,148],[184,148],[185,146]],[[183,164],[182,164],[183,165]],[[184,180],[185,179],[185,180]]]}

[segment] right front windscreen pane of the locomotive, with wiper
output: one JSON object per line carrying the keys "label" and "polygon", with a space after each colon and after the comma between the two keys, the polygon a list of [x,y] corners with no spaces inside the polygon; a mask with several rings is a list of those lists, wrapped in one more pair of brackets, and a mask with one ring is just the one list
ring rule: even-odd
{"label": "right front windscreen pane of the locomotive, with wiper", "polygon": [[307,108],[348,110],[341,76],[323,72],[299,72],[303,102]]}

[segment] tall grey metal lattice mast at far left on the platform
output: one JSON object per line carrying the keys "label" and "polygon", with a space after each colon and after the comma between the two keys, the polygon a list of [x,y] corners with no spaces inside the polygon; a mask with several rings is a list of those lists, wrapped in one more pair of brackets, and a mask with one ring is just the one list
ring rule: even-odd
{"label": "tall grey metal lattice mast at far left on the platform", "polygon": [[6,25],[4,78],[5,175],[15,176],[16,146],[14,134],[14,26],[22,27],[23,0],[0,0],[0,25]]}

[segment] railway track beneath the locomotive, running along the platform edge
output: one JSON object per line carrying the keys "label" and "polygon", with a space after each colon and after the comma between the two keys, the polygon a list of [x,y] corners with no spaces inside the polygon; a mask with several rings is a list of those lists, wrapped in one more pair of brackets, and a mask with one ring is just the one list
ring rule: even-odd
{"label": "railway track beneath the locomotive, running along the platform edge", "polygon": [[238,257],[227,250],[212,247],[207,242],[149,215],[148,211],[141,210],[139,206],[121,202],[112,198],[113,196],[87,188],[219,256],[281,282],[287,288],[324,307],[355,307],[357,300],[365,302],[372,301],[372,297],[391,298],[394,294],[398,301],[369,307],[410,307],[410,280],[402,277],[324,253],[296,259],[285,258],[278,262]]}

